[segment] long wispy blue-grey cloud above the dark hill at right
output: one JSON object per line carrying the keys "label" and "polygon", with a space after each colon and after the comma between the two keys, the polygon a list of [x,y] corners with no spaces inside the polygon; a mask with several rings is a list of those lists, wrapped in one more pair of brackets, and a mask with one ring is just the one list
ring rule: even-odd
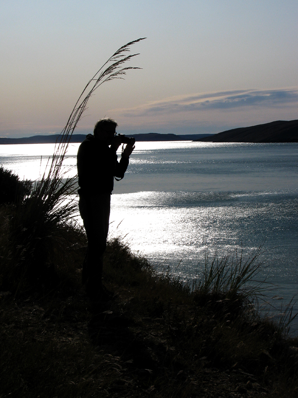
{"label": "long wispy blue-grey cloud above the dark hill at right", "polygon": [[127,116],[208,109],[226,110],[247,107],[285,107],[298,104],[298,88],[278,90],[236,90],[170,97],[130,109],[121,109]]}

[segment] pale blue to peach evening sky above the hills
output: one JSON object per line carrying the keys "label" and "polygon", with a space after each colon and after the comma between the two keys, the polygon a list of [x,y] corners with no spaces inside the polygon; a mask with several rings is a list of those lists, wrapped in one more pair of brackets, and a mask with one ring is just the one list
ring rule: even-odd
{"label": "pale blue to peach evening sky above the hills", "polygon": [[124,44],[125,80],[88,101],[118,132],[205,134],[298,119],[297,0],[0,0],[0,137],[62,131]]}

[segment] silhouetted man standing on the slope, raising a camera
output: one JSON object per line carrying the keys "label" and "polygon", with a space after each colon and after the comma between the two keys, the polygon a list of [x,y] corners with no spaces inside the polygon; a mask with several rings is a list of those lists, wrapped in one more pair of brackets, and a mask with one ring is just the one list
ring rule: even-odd
{"label": "silhouetted man standing on the slope, raising a camera", "polygon": [[109,230],[110,201],[114,177],[122,179],[134,146],[127,144],[120,161],[116,151],[121,138],[116,136],[117,122],[101,119],[88,134],[77,152],[79,212],[88,239],[82,269],[82,283],[93,299],[106,299],[109,293],[102,284],[103,254]]}

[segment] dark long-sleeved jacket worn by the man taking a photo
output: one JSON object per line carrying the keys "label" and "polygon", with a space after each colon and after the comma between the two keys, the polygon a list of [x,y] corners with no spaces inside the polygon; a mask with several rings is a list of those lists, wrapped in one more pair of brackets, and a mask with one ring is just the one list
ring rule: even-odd
{"label": "dark long-sleeved jacket worn by the man taking a photo", "polygon": [[76,164],[80,196],[111,194],[114,188],[114,176],[122,179],[129,159],[117,155],[108,145],[97,141],[88,134],[80,144]]}

